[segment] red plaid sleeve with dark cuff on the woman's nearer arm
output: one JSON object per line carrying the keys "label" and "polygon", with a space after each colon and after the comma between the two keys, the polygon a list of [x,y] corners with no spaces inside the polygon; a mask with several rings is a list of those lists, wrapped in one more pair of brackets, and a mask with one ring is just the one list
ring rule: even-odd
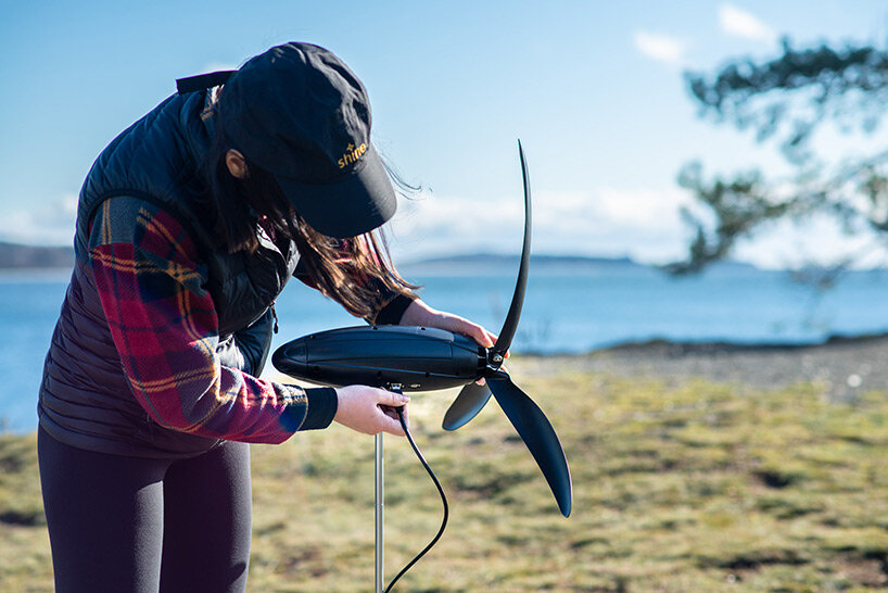
{"label": "red plaid sleeve with dark cuff on the woman's nearer arm", "polygon": [[92,272],[132,393],[174,430],[282,442],[305,420],[306,391],[219,364],[216,310],[195,253],[182,226],[153,205],[115,198],[97,214]]}

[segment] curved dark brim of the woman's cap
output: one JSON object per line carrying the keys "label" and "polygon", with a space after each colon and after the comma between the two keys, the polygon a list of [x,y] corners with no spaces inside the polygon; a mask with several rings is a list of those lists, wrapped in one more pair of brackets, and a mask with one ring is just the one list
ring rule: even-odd
{"label": "curved dark brim of the woman's cap", "polygon": [[328,237],[345,239],[369,232],[397,209],[392,181],[372,144],[360,167],[341,181],[308,185],[280,175],[276,179],[296,213]]}

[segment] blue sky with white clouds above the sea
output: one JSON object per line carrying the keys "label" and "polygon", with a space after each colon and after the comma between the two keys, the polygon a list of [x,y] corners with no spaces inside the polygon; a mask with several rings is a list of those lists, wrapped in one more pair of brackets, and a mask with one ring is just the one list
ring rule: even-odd
{"label": "blue sky with white clouds above the sea", "polygon": [[[423,187],[393,222],[398,260],[518,251],[520,138],[535,252],[668,261],[687,238],[677,209],[688,198],[675,184],[683,164],[779,171],[773,149],[697,117],[682,72],[773,56],[784,35],[884,47],[888,5],[0,1],[0,240],[69,243],[92,161],[176,78],[295,39],[331,49],[357,73],[375,142]],[[814,230],[781,227],[737,254],[779,266],[802,251],[828,258],[860,247]]]}

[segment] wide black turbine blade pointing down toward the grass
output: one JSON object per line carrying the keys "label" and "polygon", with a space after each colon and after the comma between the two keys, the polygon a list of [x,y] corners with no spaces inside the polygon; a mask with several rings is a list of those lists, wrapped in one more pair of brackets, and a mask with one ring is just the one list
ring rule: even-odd
{"label": "wide black turbine blade pointing down toward the grass", "polygon": [[505,373],[487,378],[493,396],[506,413],[518,434],[528,445],[536,465],[543,470],[558,508],[564,517],[570,516],[573,504],[573,484],[568,459],[561,442],[546,415],[527,393],[516,386]]}

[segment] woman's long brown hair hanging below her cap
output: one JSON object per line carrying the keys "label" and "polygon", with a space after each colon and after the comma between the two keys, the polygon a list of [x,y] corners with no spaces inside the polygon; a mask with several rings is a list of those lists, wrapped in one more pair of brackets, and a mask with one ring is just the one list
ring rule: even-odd
{"label": "woman's long brown hair hanging below her cap", "polygon": [[[293,211],[269,172],[246,160],[246,176],[231,175],[225,160],[231,149],[237,147],[217,123],[204,173],[216,211],[216,231],[229,253],[256,251],[262,222],[276,242],[295,243],[310,280],[325,295],[352,315],[368,319],[384,304],[384,294],[410,294],[419,288],[395,269],[381,228],[352,239],[321,235]],[[399,179],[396,185],[402,187]]]}

